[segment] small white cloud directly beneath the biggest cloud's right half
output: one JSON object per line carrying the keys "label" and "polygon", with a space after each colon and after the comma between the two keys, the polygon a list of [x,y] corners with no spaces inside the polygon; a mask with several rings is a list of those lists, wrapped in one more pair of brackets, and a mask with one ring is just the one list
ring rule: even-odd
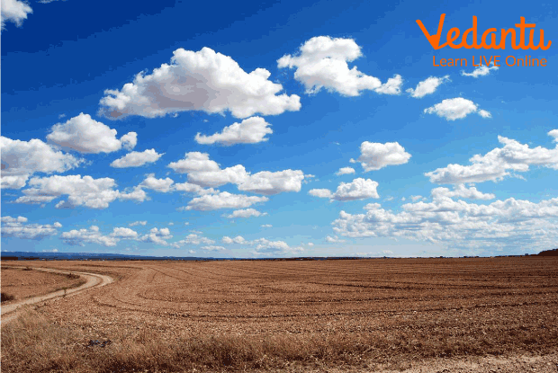
{"label": "small white cloud directly beneath the biggest cloud's right half", "polygon": [[215,144],[220,143],[226,146],[235,144],[257,144],[267,141],[266,135],[272,134],[274,131],[269,128],[271,124],[267,123],[261,117],[251,117],[242,120],[240,123],[233,123],[229,127],[225,127],[220,133],[211,136],[204,136],[198,132],[195,141],[198,144]]}

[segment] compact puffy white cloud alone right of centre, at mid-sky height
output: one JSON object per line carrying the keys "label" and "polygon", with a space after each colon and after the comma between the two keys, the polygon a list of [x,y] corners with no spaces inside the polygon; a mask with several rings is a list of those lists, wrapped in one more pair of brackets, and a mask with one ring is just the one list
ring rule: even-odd
{"label": "compact puffy white cloud alone right of centre, at mid-sky height", "polygon": [[365,141],[360,146],[358,159],[351,159],[351,163],[360,162],[366,172],[380,170],[388,165],[406,164],[410,154],[399,143],[371,143]]}

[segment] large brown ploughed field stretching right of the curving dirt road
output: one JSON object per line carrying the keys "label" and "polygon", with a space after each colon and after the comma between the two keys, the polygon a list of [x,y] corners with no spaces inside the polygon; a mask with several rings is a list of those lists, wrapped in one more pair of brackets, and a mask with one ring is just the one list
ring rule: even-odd
{"label": "large brown ploughed field stretching right of the curving dirt road", "polygon": [[28,264],[115,282],[3,325],[3,371],[557,371],[557,258]]}

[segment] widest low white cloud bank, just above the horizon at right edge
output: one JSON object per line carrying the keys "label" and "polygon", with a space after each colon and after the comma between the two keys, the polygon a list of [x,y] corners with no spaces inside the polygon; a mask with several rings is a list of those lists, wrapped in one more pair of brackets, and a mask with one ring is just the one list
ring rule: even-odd
{"label": "widest low white cloud bank, just above the horizon at right edge", "polygon": [[378,203],[365,209],[365,214],[355,215],[341,211],[333,222],[336,233],[404,237],[452,248],[491,250],[542,249],[558,239],[558,198],[538,203],[510,198],[483,205],[437,194],[432,202],[405,204],[401,212],[383,209]]}

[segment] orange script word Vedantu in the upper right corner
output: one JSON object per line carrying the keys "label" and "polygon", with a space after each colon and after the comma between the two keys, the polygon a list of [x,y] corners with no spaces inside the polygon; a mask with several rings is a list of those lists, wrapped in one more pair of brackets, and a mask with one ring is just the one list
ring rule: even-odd
{"label": "orange script word Vedantu in the upper right corner", "polygon": [[[511,40],[511,48],[513,49],[542,49],[546,50],[549,49],[552,41],[548,40],[548,43],[545,45],[545,31],[540,30],[540,40],[538,45],[534,45],[533,37],[535,35],[535,27],[536,23],[526,23],[525,17],[520,17],[521,22],[516,23],[516,27],[518,31],[515,29],[501,29],[500,32],[500,42],[496,42],[496,35],[498,30],[495,28],[490,28],[484,32],[482,32],[481,43],[479,44],[477,41],[477,17],[473,15],[473,27],[464,31],[463,36],[461,38],[461,42],[459,44],[455,44],[455,40],[459,39],[459,35],[461,34],[461,30],[457,27],[451,28],[447,31],[446,35],[446,42],[440,45],[440,38],[442,36],[442,29],[444,28],[444,19],[446,18],[446,14],[443,13],[440,15],[440,22],[438,22],[438,30],[436,34],[430,35],[428,33],[427,28],[422,24],[420,20],[417,20],[419,24],[420,30],[424,33],[427,37],[428,42],[434,49],[442,49],[446,46],[449,46],[453,49],[506,49],[506,40],[508,37]],[[529,30],[528,42],[526,45],[526,29]],[[469,35],[472,35],[473,42],[472,44],[467,43],[467,38]],[[519,38],[518,38],[519,37]],[[518,41],[519,39],[519,41]],[[487,40],[490,40],[490,44],[487,44]]]}

